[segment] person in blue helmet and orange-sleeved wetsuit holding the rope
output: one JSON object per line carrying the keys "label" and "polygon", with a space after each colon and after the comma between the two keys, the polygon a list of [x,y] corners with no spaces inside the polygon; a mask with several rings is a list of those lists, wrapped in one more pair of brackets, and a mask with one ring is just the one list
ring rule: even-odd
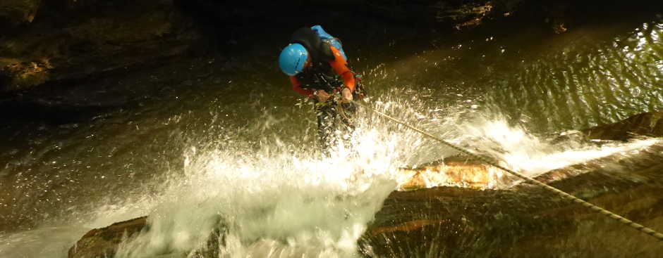
{"label": "person in blue helmet and orange-sleeved wetsuit holding the rope", "polygon": [[320,146],[329,154],[329,148],[354,129],[352,101],[358,96],[358,79],[348,68],[341,41],[320,25],[302,27],[281,51],[279,67],[290,77],[294,91],[315,102]]}

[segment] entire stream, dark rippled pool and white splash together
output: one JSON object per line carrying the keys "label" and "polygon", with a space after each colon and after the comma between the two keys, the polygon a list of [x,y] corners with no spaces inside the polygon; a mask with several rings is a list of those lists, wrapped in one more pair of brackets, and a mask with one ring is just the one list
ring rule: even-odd
{"label": "entire stream, dark rippled pool and white splash together", "polygon": [[[627,23],[518,36],[528,44],[506,32],[401,39],[358,50],[370,60],[358,66],[379,110],[535,176],[659,141],[547,142],[662,109],[663,22]],[[66,257],[90,228],[146,214],[153,230],[125,257],[192,250],[219,218],[227,257],[353,256],[398,168],[455,154],[362,112],[355,151],[321,158],[313,112],[272,68],[219,72],[86,122],[5,127],[19,130],[0,154],[0,257]]]}

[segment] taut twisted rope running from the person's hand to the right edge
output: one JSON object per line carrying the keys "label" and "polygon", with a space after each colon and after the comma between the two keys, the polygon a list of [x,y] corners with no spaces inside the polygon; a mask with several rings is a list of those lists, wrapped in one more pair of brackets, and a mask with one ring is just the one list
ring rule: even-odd
{"label": "taut twisted rope running from the person's hand to the right edge", "polygon": [[475,155],[474,153],[470,153],[468,150],[464,150],[463,148],[460,148],[460,147],[458,147],[458,146],[455,146],[453,143],[449,143],[448,141],[444,141],[442,138],[439,138],[439,137],[437,137],[437,136],[434,136],[434,135],[432,135],[432,134],[429,134],[429,133],[427,133],[426,131],[422,131],[421,129],[418,129],[418,128],[416,128],[416,127],[411,126],[410,124],[406,124],[405,122],[402,122],[402,121],[400,121],[400,120],[397,120],[397,119],[394,118],[394,117],[390,117],[389,115],[384,114],[383,112],[379,112],[379,111],[377,111],[377,110],[375,110],[375,109],[373,109],[373,108],[370,108],[369,106],[367,106],[367,105],[365,105],[365,104],[363,104],[363,103],[360,103],[360,102],[358,102],[358,101],[356,101],[355,103],[357,103],[358,105],[362,106],[363,108],[366,108],[367,110],[370,110],[370,111],[372,111],[372,112],[377,113],[378,115],[381,115],[381,116],[384,117],[384,118],[387,118],[388,120],[391,120],[392,122],[396,122],[396,123],[398,123],[398,124],[402,124],[403,126],[408,127],[409,129],[412,129],[413,131],[417,131],[418,133],[423,134],[423,135],[425,135],[425,136],[428,136],[428,137],[434,139],[435,141],[439,141],[440,143],[443,143],[443,144],[446,145],[446,146],[449,146],[449,147],[451,147],[451,148],[454,148],[454,150],[458,150],[459,152],[464,153],[464,154],[466,154],[466,155],[469,155],[470,157],[474,157],[475,159],[478,159],[478,160],[480,160],[480,161],[482,161],[482,162],[485,162],[486,164],[489,164],[489,165],[492,165],[493,167],[497,167],[497,168],[499,168],[499,169],[502,169],[502,170],[504,170],[505,172],[508,172],[509,174],[512,174],[512,175],[514,175],[514,176],[518,176],[518,178],[520,178],[520,179],[523,179],[523,180],[528,181],[528,182],[530,182],[530,183],[534,183],[534,184],[536,184],[537,186],[541,186],[541,187],[543,187],[543,188],[545,188],[545,189],[547,189],[547,190],[549,190],[549,191],[552,191],[552,192],[554,192],[554,193],[560,195],[562,198],[571,199],[571,200],[573,200],[573,202],[579,203],[580,205],[583,205],[583,206],[585,206],[585,207],[588,207],[588,208],[594,210],[595,212],[599,212],[600,214],[604,214],[605,216],[609,217],[610,219],[614,219],[614,220],[616,220],[616,221],[619,221],[619,223],[621,223],[621,224],[626,224],[627,226],[631,226],[631,228],[635,228],[636,230],[638,230],[638,231],[640,231],[640,232],[646,233],[647,235],[653,236],[654,238],[657,238],[658,240],[663,241],[663,234],[662,234],[662,233],[659,233],[659,232],[657,232],[657,231],[655,231],[655,230],[653,230],[652,228],[647,228],[646,226],[643,226],[643,225],[641,225],[641,224],[635,223],[635,222],[631,221],[630,219],[626,219],[625,217],[621,217],[621,216],[619,216],[618,214],[614,214],[613,212],[610,212],[610,211],[607,210],[607,209],[603,209],[602,207],[598,207],[597,205],[593,205],[593,204],[591,204],[590,202],[586,202],[585,200],[582,200],[582,199],[580,199],[580,198],[577,198],[576,196],[570,195],[570,194],[568,194],[568,193],[565,193],[564,191],[561,191],[561,190],[559,190],[559,189],[557,189],[557,188],[554,188],[554,187],[552,187],[552,186],[549,186],[549,185],[547,185],[546,183],[542,183],[541,181],[538,181],[538,180],[536,180],[536,179],[533,179],[533,178],[531,178],[531,177],[529,177],[529,176],[525,176],[525,175],[520,174],[520,173],[518,173],[518,172],[514,172],[514,171],[511,170],[511,169],[507,169],[506,167],[502,167],[502,166],[498,165],[497,163],[492,162],[491,160],[488,160],[488,159],[485,158],[485,157],[482,157],[482,156],[480,156],[480,155]]}

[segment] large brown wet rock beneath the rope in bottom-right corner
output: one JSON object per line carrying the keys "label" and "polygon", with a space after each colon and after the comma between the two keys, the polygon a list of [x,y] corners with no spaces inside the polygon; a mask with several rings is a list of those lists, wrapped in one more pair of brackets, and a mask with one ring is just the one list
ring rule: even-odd
{"label": "large brown wet rock beneath the rope in bottom-right corner", "polygon": [[[597,160],[539,179],[662,231],[662,151],[659,144],[621,160],[624,166]],[[527,184],[393,192],[359,243],[370,257],[657,257],[663,251],[655,238]]]}

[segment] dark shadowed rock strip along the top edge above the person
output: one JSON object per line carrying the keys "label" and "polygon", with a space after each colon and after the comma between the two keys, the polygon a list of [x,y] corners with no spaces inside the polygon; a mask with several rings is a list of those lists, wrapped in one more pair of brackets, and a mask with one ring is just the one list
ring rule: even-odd
{"label": "dark shadowed rock strip along the top edge above the person", "polygon": [[[338,11],[356,12],[358,15],[370,15],[406,24],[422,26],[456,27],[458,29],[478,25],[484,18],[501,16],[501,13],[513,11],[525,0],[419,0],[419,1],[290,1],[262,3],[262,8],[255,8],[250,2],[224,3],[214,0],[178,1],[190,11],[205,13],[215,20],[230,24],[261,22],[271,13],[302,10],[307,13],[330,13]],[[344,8],[345,7],[345,8]],[[500,15],[495,15],[499,13]],[[284,17],[279,18],[279,20]],[[277,21],[274,21],[277,22]]]}

